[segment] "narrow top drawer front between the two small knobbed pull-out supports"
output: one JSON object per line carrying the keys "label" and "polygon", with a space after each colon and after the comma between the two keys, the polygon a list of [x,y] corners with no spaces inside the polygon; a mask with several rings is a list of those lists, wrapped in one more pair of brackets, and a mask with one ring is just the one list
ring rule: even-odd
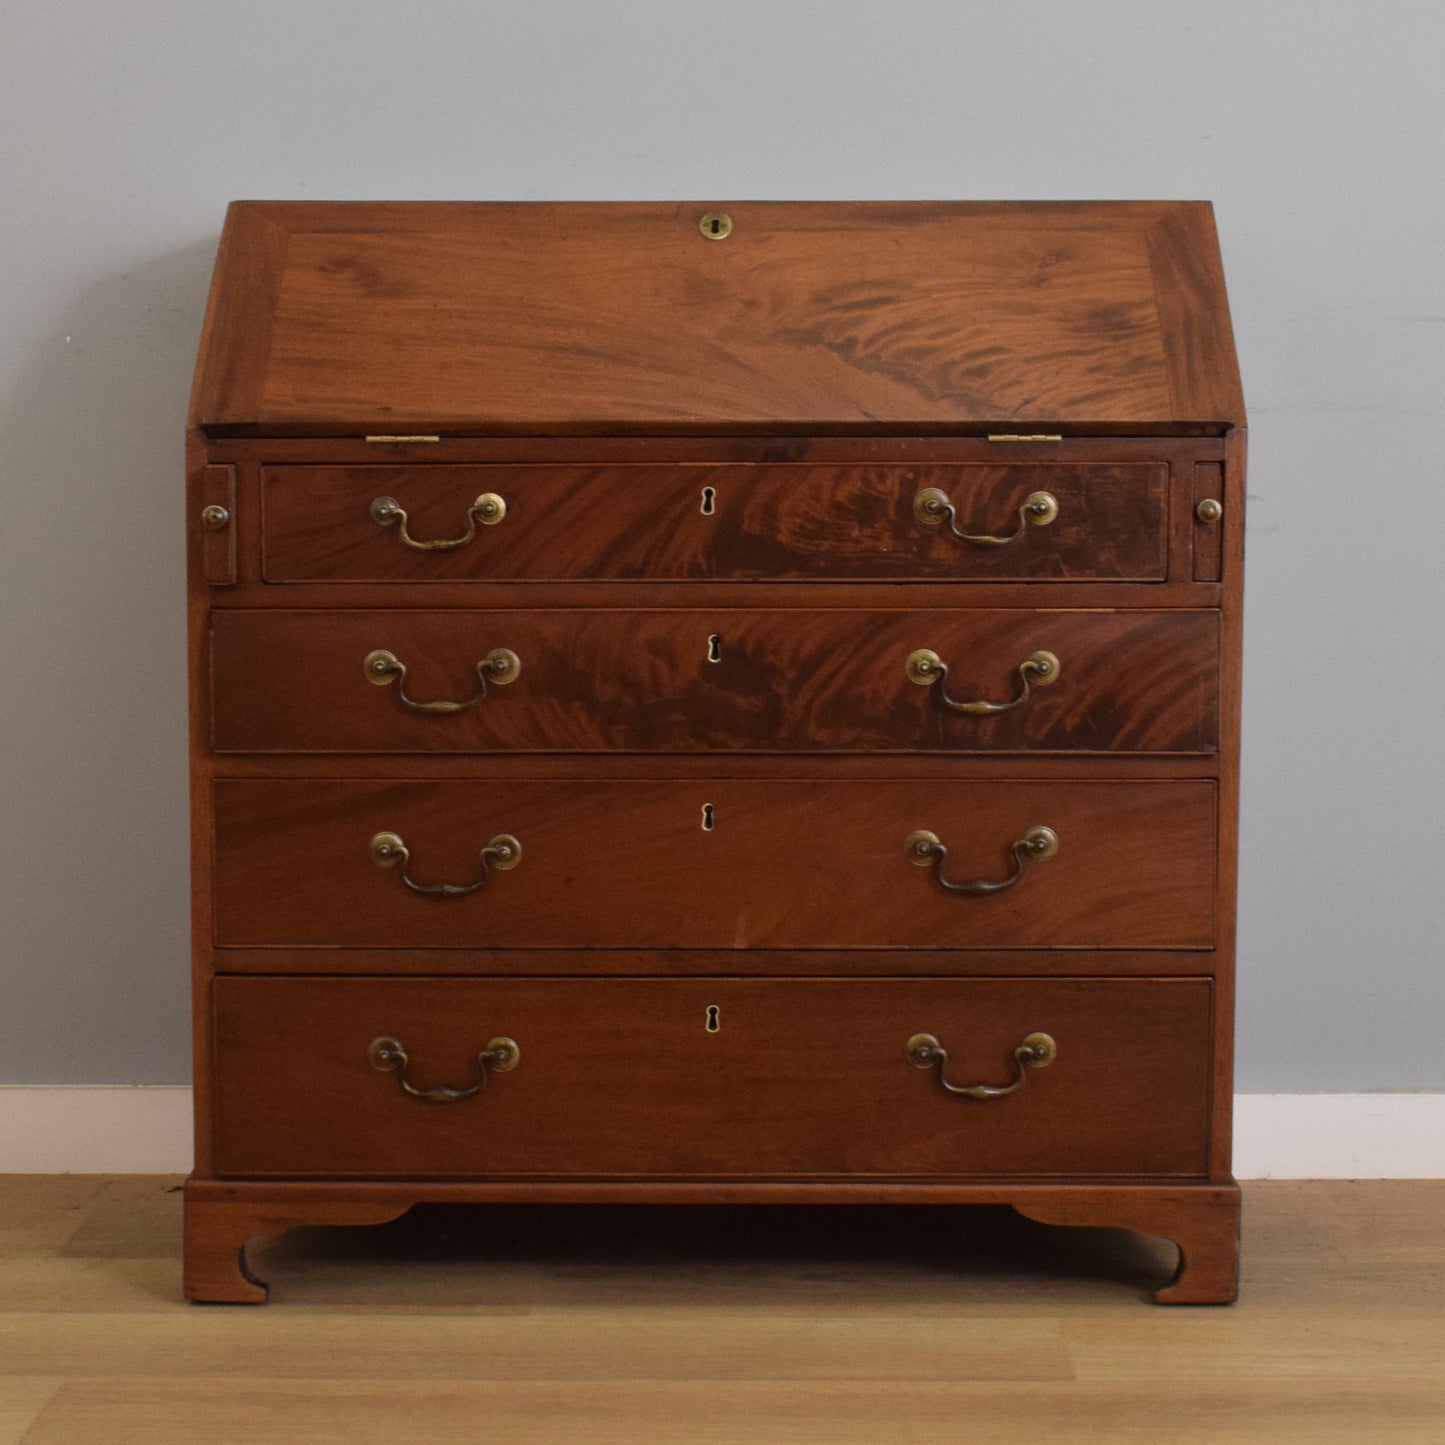
{"label": "narrow top drawer front between the two small knobbed pull-out supports", "polygon": [[[1159,581],[1166,471],[1152,462],[266,467],[262,565],[270,582]],[[928,510],[926,493],[952,513],[944,503]],[[1035,494],[1056,504],[1053,520],[1020,514]],[[484,497],[500,506],[474,510]],[[967,542],[955,527],[1013,540]],[[434,542],[458,545],[410,545]]]}

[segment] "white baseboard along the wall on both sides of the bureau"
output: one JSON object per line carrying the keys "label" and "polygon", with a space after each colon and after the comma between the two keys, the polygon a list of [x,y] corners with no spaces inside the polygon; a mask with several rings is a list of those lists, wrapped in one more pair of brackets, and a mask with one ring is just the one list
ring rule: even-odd
{"label": "white baseboard along the wall on both sides of the bureau", "polygon": [[[186,1173],[191,1090],[0,1087],[0,1173]],[[1238,1094],[1240,1179],[1445,1179],[1445,1094]]]}

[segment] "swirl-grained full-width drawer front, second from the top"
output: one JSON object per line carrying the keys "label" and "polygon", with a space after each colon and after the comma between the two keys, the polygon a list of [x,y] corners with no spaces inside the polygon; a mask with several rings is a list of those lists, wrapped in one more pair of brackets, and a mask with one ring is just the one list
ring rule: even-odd
{"label": "swirl-grained full-width drawer front, second from the top", "polygon": [[1211,611],[224,611],[212,730],[223,753],[1202,753],[1218,639]]}

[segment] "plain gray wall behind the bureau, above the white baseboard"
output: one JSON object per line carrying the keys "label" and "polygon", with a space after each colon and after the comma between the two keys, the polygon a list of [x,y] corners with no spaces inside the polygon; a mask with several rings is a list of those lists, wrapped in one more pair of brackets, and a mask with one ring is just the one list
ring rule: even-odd
{"label": "plain gray wall behind the bureau, above the white baseboard", "polygon": [[181,431],[260,198],[1215,202],[1251,403],[1240,1084],[1445,1088],[1445,6],[0,12],[0,1079],[186,1078]]}

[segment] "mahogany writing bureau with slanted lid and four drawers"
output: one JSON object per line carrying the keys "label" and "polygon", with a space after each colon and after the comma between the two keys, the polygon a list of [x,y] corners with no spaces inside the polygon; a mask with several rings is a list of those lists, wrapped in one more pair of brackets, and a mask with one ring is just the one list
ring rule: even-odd
{"label": "mahogany writing bureau with slanted lid and four drawers", "polygon": [[186,1292],[419,1201],[1010,1204],[1235,1290],[1209,207],[231,207]]}

